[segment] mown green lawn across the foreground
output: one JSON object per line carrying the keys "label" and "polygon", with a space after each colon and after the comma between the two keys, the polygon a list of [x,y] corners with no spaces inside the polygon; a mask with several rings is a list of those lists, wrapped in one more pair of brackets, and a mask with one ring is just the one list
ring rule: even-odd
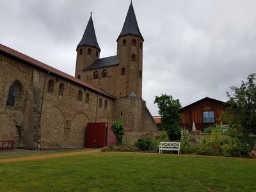
{"label": "mown green lawn across the foreground", "polygon": [[0,163],[0,191],[256,191],[255,159],[102,152]]}

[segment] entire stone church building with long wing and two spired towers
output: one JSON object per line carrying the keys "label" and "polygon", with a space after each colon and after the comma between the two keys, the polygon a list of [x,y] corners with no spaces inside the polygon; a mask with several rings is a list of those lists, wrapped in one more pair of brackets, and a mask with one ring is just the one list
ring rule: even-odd
{"label": "entire stone church building with long wing and two spired towers", "polygon": [[92,15],[70,76],[0,44],[0,141],[17,148],[81,148],[88,123],[122,120],[124,141],[158,136],[142,99],[143,36],[132,3],[116,55],[100,58]]}

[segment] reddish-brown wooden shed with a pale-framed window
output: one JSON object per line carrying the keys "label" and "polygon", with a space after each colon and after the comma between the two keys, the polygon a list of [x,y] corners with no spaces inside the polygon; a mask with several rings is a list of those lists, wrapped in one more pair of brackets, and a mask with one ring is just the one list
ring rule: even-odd
{"label": "reddish-brown wooden shed with a pale-framed window", "polygon": [[221,123],[221,113],[225,108],[225,102],[205,97],[179,109],[179,113],[182,114],[180,126],[192,130],[195,122],[196,130],[204,131],[206,127]]}

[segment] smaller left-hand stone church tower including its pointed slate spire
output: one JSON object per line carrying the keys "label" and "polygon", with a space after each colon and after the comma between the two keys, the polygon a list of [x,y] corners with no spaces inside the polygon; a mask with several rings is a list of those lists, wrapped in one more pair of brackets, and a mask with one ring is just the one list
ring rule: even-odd
{"label": "smaller left-hand stone church tower including its pointed slate spire", "polygon": [[79,42],[76,48],[76,77],[78,79],[86,80],[83,72],[84,68],[92,65],[95,60],[100,58],[100,47],[97,42],[95,30],[93,26],[92,13],[86,29],[84,31],[83,38]]}

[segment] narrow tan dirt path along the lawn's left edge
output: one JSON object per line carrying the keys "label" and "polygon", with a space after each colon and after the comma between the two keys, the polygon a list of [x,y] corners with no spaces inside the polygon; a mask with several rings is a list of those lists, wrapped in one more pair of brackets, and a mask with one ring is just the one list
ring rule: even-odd
{"label": "narrow tan dirt path along the lawn's left edge", "polygon": [[77,156],[77,155],[82,155],[82,154],[92,154],[92,153],[98,153],[98,152],[101,152],[101,150],[68,152],[68,153],[63,153],[63,154],[49,154],[49,155],[38,155],[38,156],[29,156],[29,157],[17,157],[17,158],[10,158],[10,159],[0,159],[0,163],[30,161],[30,160],[36,160],[36,159],[49,159],[49,158],[56,158],[56,157]]}

